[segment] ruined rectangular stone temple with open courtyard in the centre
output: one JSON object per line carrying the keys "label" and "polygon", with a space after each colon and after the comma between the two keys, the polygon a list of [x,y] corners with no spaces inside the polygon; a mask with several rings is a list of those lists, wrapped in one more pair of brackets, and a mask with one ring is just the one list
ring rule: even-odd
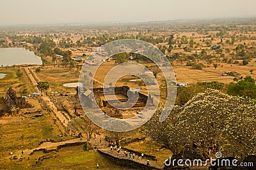
{"label": "ruined rectangular stone temple with open courtyard in the centre", "polygon": [[[127,86],[108,87],[106,89],[95,88],[93,90],[84,89],[83,92],[79,92],[79,94],[81,94],[81,99],[84,101],[81,104],[86,104],[89,108],[99,107],[104,111],[104,113],[106,113],[106,115],[115,118],[131,118],[136,116],[138,111],[142,110],[146,104],[151,106],[154,105],[154,98],[151,97],[150,94],[146,96],[145,94],[141,94]],[[105,96],[109,97],[108,101]],[[116,96],[119,96],[119,98]],[[127,108],[127,106],[130,106],[131,103],[127,102],[128,99],[132,104],[135,103],[134,106],[132,106],[132,110],[116,109]]]}

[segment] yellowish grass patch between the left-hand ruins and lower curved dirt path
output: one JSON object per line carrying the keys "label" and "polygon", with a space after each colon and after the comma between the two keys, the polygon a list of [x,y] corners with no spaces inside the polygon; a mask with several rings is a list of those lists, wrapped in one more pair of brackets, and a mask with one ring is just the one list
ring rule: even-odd
{"label": "yellowish grass patch between the left-hand ruins and lower curved dirt path", "polygon": [[60,140],[58,131],[49,124],[49,117],[36,118],[17,118],[8,124],[4,124],[1,130],[4,131],[0,138],[1,152],[13,152],[21,149],[31,149],[38,146],[40,141],[46,138]]}

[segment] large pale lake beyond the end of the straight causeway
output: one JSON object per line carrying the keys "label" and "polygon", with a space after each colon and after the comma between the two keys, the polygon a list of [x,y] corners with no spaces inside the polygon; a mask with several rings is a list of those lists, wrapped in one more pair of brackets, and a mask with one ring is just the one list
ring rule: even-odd
{"label": "large pale lake beyond the end of the straight causeway", "polygon": [[21,64],[42,64],[42,60],[26,48],[0,48],[0,66]]}

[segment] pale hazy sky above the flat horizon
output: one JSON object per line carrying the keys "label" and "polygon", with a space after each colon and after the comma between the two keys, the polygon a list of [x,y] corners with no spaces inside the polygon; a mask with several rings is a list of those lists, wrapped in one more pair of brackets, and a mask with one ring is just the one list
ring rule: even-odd
{"label": "pale hazy sky above the flat horizon", "polygon": [[0,0],[0,25],[256,16],[255,0]]}

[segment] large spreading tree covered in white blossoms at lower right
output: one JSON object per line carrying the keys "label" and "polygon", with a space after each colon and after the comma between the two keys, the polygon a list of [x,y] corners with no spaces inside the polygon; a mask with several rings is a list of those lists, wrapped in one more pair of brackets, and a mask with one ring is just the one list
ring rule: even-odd
{"label": "large spreading tree covered in white blossoms at lower right", "polygon": [[218,141],[224,156],[243,159],[256,153],[256,104],[249,98],[218,90],[199,93],[184,106],[174,106],[162,124],[157,115],[145,125],[145,134],[177,153],[193,141],[206,150],[206,141]]}

